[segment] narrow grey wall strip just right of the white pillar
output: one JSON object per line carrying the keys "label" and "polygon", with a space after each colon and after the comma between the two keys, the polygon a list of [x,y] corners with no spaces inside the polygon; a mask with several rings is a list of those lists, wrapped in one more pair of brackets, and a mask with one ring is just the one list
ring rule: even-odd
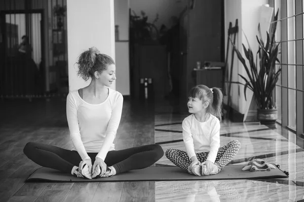
{"label": "narrow grey wall strip just right of the white pillar", "polygon": [[130,95],[129,64],[129,0],[115,0],[115,25],[119,26],[119,40],[115,42],[116,90]]}

